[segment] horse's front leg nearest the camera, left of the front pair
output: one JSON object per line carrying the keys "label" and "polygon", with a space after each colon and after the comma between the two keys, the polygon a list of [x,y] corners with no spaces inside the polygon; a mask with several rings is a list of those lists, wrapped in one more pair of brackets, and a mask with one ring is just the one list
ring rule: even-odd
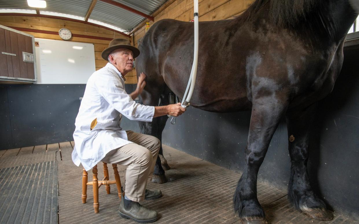
{"label": "horse's front leg nearest the camera, left of the front pair", "polygon": [[286,97],[253,96],[246,165],[233,196],[233,205],[242,223],[267,224],[264,210],[257,199],[257,175],[270,140],[287,108]]}

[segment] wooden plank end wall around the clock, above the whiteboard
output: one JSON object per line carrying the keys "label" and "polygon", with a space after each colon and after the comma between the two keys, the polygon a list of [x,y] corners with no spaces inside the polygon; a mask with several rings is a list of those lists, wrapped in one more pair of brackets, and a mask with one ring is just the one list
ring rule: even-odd
{"label": "wooden plank end wall around the clock, above the whiteboard", "polygon": [[[0,15],[0,24],[6,27],[19,27],[19,28],[27,28],[27,29],[37,29],[37,30],[45,30],[52,32],[59,32],[61,28],[67,28],[73,34],[81,34],[81,35],[89,35],[95,37],[106,37],[106,38],[127,38],[132,41],[132,38],[125,37],[119,33],[115,33],[111,30],[107,30],[101,27],[96,27],[89,24],[83,24],[68,20],[62,19],[52,19],[52,18],[43,18],[36,16],[8,16],[8,15]],[[46,34],[46,33],[35,33],[35,32],[25,32],[28,34],[34,35],[37,38],[45,38],[45,39],[55,39],[62,40],[59,35],[55,34]],[[99,40],[92,38],[81,38],[81,37],[72,37],[70,41],[75,42],[85,42],[85,43],[93,43],[95,48],[95,66],[96,70],[104,67],[107,61],[101,58],[101,52],[108,47],[109,40]],[[132,84],[132,73],[129,72],[126,75],[126,84]],[[136,74],[136,73],[133,73]],[[136,81],[136,79],[135,79]],[[137,82],[135,82],[137,83]]]}

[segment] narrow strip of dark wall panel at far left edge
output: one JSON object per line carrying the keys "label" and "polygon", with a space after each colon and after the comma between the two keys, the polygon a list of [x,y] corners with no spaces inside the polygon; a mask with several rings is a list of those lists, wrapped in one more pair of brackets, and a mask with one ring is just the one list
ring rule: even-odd
{"label": "narrow strip of dark wall panel at far left edge", "polygon": [[6,87],[0,85],[0,150],[14,148],[11,137],[10,113]]}

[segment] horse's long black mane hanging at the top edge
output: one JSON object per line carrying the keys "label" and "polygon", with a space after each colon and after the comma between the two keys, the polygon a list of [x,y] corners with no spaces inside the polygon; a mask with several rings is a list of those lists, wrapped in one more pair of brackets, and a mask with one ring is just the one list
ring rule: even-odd
{"label": "horse's long black mane hanging at the top edge", "polygon": [[262,6],[269,4],[270,22],[280,27],[294,26],[300,21],[306,21],[323,2],[324,0],[255,0],[238,19],[241,22],[249,21]]}

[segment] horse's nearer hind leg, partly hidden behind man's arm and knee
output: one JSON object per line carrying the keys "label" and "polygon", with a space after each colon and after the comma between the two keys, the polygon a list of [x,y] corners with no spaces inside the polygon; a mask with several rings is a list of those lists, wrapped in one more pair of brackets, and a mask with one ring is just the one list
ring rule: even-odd
{"label": "horse's nearer hind leg, partly hidden behind man's arm and knee", "polygon": [[[159,91],[160,91],[159,89],[144,90],[141,93],[143,104],[149,105],[149,106],[158,106],[158,101],[160,98]],[[163,122],[162,120],[163,119],[161,119],[161,117],[157,117],[157,118],[153,118],[152,122],[141,123],[142,133],[152,135],[152,136],[160,139],[160,136],[158,136],[158,128],[159,128],[159,123]],[[161,148],[162,148],[162,146],[161,146]],[[158,183],[158,184],[163,184],[163,183],[167,182],[167,178],[166,178],[164,170],[161,166],[161,160],[160,160],[159,156],[157,157],[156,165],[153,170],[152,182]]]}

